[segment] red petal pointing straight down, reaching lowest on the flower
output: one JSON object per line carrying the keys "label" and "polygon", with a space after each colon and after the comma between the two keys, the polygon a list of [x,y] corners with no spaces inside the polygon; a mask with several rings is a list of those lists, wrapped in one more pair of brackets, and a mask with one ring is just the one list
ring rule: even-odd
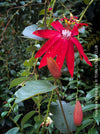
{"label": "red petal pointing straight down, reaching lowest on the flower", "polygon": [[73,77],[74,72],[74,46],[73,43],[69,41],[68,43],[68,51],[66,53],[66,62],[68,66],[68,70],[71,74],[71,77]]}

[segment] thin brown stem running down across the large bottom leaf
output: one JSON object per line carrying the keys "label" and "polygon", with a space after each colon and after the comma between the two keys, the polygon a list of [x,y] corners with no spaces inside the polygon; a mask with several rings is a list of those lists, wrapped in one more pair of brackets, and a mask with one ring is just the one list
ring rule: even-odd
{"label": "thin brown stem running down across the large bottom leaf", "polygon": [[[56,79],[55,79],[55,85],[57,85]],[[63,117],[64,117],[64,120],[65,120],[65,124],[66,124],[67,130],[68,130],[68,134],[70,134],[69,125],[68,125],[68,122],[67,122],[67,119],[66,119],[66,116],[65,116],[65,113],[64,113],[64,109],[63,109],[62,103],[61,103],[61,98],[60,98],[60,96],[59,96],[58,88],[56,88],[55,91],[56,91],[56,94],[57,94],[58,99],[59,99],[60,107],[61,107],[61,110],[62,110],[62,113],[63,113]]]}

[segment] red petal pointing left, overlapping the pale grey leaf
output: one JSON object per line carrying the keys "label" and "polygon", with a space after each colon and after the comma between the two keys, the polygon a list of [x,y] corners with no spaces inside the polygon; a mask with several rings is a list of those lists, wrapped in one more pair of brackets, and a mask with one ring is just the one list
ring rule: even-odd
{"label": "red petal pointing left, overlapping the pale grey leaf", "polygon": [[49,38],[54,37],[55,35],[58,35],[59,33],[55,30],[45,29],[45,30],[37,30],[37,31],[33,32],[33,34],[35,34],[39,37],[42,37],[42,38],[49,39]]}

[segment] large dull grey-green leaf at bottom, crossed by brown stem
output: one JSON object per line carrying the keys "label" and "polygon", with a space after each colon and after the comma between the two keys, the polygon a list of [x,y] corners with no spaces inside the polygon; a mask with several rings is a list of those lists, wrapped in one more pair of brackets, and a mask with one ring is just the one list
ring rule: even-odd
{"label": "large dull grey-green leaf at bottom, crossed by brown stem", "polygon": [[[73,121],[73,112],[74,112],[74,106],[71,106],[70,103],[66,103],[64,101],[62,101],[62,105],[63,105],[63,109],[65,112],[65,116],[70,128],[70,131],[75,131],[76,127],[74,125],[74,121]],[[64,117],[61,111],[61,107],[59,104],[59,101],[57,101],[57,103],[52,102],[51,106],[50,106],[50,112],[53,114],[53,116],[51,116],[51,118],[53,119],[54,125],[55,127],[60,130],[62,133],[68,133],[67,128],[66,128],[66,124],[64,121]]]}

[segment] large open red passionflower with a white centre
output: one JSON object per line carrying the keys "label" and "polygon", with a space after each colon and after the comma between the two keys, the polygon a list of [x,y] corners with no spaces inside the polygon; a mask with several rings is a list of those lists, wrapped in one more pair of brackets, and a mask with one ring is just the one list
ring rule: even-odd
{"label": "large open red passionflower with a white centre", "polygon": [[85,55],[84,50],[80,42],[74,37],[79,34],[77,25],[74,25],[72,29],[69,27],[63,27],[59,21],[54,21],[51,23],[52,27],[56,30],[37,30],[33,34],[49,39],[43,47],[36,53],[35,58],[42,56],[44,53],[39,68],[47,65],[48,57],[56,57],[56,63],[59,68],[62,68],[64,59],[66,57],[66,62],[68,70],[73,77],[74,72],[74,44],[77,47],[81,58],[83,57],[87,64],[92,66],[88,57]]}

